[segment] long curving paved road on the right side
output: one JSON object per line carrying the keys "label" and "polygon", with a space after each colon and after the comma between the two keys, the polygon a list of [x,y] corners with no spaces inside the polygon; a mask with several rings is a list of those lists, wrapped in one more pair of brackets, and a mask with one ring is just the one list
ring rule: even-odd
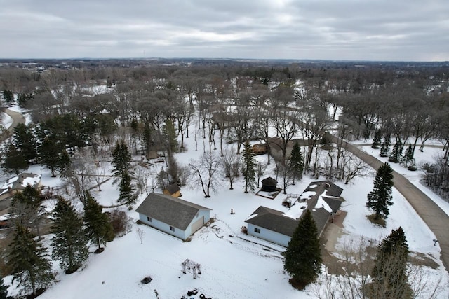
{"label": "long curving paved road on the right side", "polygon": [[[337,137],[330,138],[335,143],[341,142]],[[351,153],[354,153],[354,155],[374,169],[378,169],[383,163],[372,155],[361,151],[356,146],[348,144],[345,141],[343,141],[342,147],[346,148]],[[398,172],[393,172],[393,174],[394,187],[403,195],[403,197],[406,197],[406,200],[411,204],[413,209],[415,209],[417,214],[427,226],[429,226],[430,230],[434,232],[441,247],[441,260],[443,261],[446,270],[449,271],[449,216],[403,175],[398,174]]]}

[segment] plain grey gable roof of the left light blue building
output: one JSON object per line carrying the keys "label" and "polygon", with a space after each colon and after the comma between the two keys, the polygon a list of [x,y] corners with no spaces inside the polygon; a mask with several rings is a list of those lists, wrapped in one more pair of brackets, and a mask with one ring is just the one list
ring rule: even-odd
{"label": "plain grey gable roof of the left light blue building", "polygon": [[210,209],[159,193],[150,193],[142,204],[135,209],[140,214],[162,221],[180,230],[187,228],[199,210]]}

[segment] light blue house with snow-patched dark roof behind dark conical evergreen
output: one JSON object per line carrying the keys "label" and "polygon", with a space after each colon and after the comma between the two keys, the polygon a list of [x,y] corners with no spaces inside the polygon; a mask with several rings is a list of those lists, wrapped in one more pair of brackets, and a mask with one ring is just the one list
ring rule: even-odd
{"label": "light blue house with snow-patched dark roof behind dark conical evergreen", "polygon": [[248,223],[248,234],[288,246],[302,214],[309,209],[318,234],[321,235],[326,224],[333,221],[333,217],[340,209],[342,192],[342,188],[330,181],[310,183],[285,212],[258,207],[245,221]]}

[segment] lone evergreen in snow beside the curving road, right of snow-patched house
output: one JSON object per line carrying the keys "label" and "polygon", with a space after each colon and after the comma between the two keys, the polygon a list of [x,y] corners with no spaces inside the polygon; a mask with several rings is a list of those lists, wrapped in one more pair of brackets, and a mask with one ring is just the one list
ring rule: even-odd
{"label": "lone evergreen in snow beside the curving road, right of snow-patched house", "polygon": [[393,204],[391,188],[393,187],[393,169],[384,163],[377,169],[373,191],[368,193],[366,207],[375,211],[375,219],[387,219],[389,206]]}

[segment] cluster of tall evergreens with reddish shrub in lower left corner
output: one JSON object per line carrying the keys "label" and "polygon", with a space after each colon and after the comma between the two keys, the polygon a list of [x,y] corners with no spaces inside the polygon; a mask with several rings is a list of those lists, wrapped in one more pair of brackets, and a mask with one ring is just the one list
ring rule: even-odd
{"label": "cluster of tall evergreens with reddish shrub in lower left corner", "polygon": [[[43,198],[39,191],[27,185],[22,193],[16,193],[11,203],[15,230],[6,258],[7,270],[13,274],[22,291],[33,295],[43,291],[55,279],[51,260],[57,260],[66,274],[76,272],[88,258],[88,243],[98,246],[100,253],[106,242],[114,239],[112,218],[102,212],[102,207],[90,193],[86,194],[86,206],[80,214],[69,202],[58,197],[51,211],[51,244],[49,250],[41,243],[39,225],[46,216]],[[114,211],[114,214],[118,213]],[[126,216],[125,216],[126,217]],[[116,222],[126,222],[121,218]],[[36,232],[38,239],[36,239]]]}

